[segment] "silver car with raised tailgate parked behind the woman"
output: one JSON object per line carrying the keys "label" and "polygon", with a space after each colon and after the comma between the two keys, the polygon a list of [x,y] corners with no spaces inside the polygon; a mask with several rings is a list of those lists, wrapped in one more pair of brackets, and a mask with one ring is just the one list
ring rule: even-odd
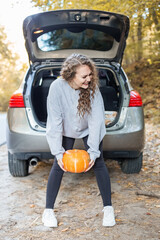
{"label": "silver car with raised tailgate parked behind the woman", "polygon": [[[127,16],[104,11],[58,10],[24,20],[30,67],[10,98],[7,115],[8,163],[13,176],[26,176],[30,164],[54,158],[46,140],[46,99],[63,61],[73,52],[92,58],[99,72],[106,115],[104,157],[117,160],[124,173],[140,172],[142,99],[121,66],[128,32]],[[74,148],[83,147],[77,139]]]}

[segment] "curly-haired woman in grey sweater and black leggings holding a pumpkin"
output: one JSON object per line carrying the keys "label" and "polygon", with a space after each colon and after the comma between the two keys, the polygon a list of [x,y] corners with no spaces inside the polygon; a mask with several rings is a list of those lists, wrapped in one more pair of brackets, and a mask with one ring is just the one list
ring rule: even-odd
{"label": "curly-haired woman in grey sweater and black leggings holding a pumpkin", "polygon": [[106,133],[104,105],[97,71],[88,57],[72,54],[65,60],[61,77],[51,84],[47,111],[46,137],[55,161],[48,178],[42,222],[45,226],[57,227],[53,208],[65,172],[63,153],[73,148],[76,138],[82,138],[90,155],[86,171],[93,167],[103,200],[103,226],[114,226],[110,178],[102,154]]}

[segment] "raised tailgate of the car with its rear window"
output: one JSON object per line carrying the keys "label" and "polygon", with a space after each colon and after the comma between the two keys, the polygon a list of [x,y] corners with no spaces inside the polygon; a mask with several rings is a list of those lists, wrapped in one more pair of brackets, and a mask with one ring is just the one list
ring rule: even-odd
{"label": "raised tailgate of the car with its rear window", "polygon": [[65,59],[72,52],[120,63],[128,32],[127,16],[97,10],[49,11],[23,22],[30,63]]}

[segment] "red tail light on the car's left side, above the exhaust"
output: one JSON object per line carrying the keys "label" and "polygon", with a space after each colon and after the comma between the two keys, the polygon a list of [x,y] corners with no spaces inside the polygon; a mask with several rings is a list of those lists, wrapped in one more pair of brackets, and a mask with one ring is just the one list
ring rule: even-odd
{"label": "red tail light on the car's left side, above the exhaust", "polygon": [[10,98],[9,107],[10,108],[25,107],[24,100],[23,100],[23,94],[22,93],[14,93]]}

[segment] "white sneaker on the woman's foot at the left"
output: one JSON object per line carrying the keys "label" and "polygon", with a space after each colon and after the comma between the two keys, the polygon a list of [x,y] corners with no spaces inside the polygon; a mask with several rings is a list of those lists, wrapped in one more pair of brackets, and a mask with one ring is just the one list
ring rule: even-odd
{"label": "white sneaker on the woman's foot at the left", "polygon": [[57,219],[54,215],[53,209],[46,208],[42,214],[42,222],[46,227],[57,227]]}

